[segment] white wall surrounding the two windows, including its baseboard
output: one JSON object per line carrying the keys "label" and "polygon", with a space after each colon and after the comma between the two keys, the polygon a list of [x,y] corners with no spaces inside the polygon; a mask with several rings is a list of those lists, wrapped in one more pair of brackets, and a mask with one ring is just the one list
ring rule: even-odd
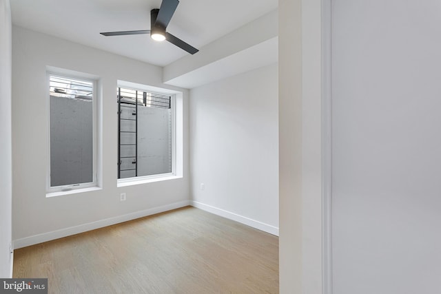
{"label": "white wall surrounding the two windows, including its baseboard", "polygon": [[[18,27],[13,28],[12,39],[12,237],[16,245],[32,244],[36,240],[76,233],[114,220],[135,218],[189,203],[186,90],[182,90],[183,178],[117,188],[117,80],[172,89],[161,83],[161,67]],[[103,189],[99,191],[45,197],[48,162],[47,65],[101,77]],[[127,201],[120,202],[121,192],[127,193]]]}

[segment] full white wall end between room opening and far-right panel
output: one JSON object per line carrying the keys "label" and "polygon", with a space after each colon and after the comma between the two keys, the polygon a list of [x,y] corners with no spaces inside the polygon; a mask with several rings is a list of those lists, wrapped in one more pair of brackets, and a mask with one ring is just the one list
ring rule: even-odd
{"label": "full white wall end between room opening and far-right panel", "polygon": [[280,293],[322,293],[322,1],[279,6]]}

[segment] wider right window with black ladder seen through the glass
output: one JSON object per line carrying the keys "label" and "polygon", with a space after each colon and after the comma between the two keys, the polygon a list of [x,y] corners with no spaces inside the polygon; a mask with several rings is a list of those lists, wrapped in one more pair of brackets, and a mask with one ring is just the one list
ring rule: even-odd
{"label": "wider right window with black ladder seen through the glass", "polygon": [[174,95],[117,88],[118,178],[172,175]]}

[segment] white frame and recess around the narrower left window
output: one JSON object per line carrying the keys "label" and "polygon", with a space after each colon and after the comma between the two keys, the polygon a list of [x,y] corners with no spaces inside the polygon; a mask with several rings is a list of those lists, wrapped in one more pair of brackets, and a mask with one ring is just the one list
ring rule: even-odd
{"label": "white frame and recess around the narrower left window", "polygon": [[[51,186],[50,179],[50,77],[59,77],[66,79],[74,79],[77,81],[83,81],[87,83],[92,83],[92,182],[76,183],[70,185],[61,186]],[[91,74],[85,74],[81,72],[74,72],[71,70],[63,70],[57,67],[48,67],[46,70],[46,101],[47,101],[47,112],[48,112],[48,161],[46,163],[46,196],[59,196],[63,194],[78,193],[84,191],[84,189],[91,189],[99,187],[98,178],[98,136],[99,136],[99,78]]]}

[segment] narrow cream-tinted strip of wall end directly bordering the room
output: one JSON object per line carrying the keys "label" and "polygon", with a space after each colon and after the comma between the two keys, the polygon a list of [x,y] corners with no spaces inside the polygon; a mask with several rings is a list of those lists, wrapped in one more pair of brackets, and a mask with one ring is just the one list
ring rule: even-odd
{"label": "narrow cream-tinted strip of wall end directly bordering the room", "polygon": [[302,9],[279,0],[279,287],[302,293]]}

